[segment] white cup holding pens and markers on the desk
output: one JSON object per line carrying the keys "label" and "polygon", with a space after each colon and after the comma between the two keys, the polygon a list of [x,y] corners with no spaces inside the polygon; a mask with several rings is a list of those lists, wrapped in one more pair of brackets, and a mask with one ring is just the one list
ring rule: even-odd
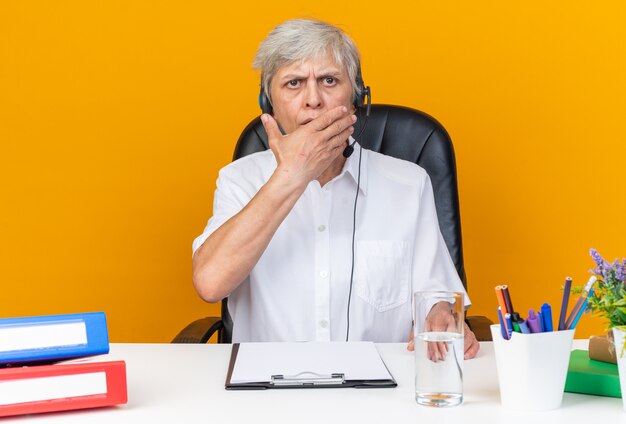
{"label": "white cup holding pens and markers on the desk", "polygon": [[548,411],[561,406],[574,330],[513,333],[502,338],[491,326],[502,406]]}

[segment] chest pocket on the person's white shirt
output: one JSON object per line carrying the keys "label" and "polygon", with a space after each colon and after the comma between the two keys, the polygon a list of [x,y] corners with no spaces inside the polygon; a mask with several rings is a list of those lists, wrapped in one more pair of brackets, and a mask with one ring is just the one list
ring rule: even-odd
{"label": "chest pocket on the person's white shirt", "polygon": [[385,312],[409,298],[411,278],[410,243],[392,240],[362,240],[357,243],[356,294]]}

